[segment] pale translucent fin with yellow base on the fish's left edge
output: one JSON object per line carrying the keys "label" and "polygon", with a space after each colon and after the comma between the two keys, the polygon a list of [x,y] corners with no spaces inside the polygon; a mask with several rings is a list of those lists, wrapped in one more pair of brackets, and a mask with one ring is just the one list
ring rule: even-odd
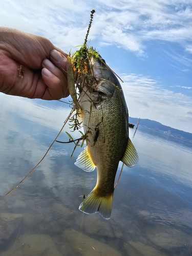
{"label": "pale translucent fin with yellow base on the fish's left edge", "polygon": [[92,161],[89,148],[87,146],[78,156],[75,165],[83,170],[86,170],[86,172],[93,172],[95,169],[96,165]]}

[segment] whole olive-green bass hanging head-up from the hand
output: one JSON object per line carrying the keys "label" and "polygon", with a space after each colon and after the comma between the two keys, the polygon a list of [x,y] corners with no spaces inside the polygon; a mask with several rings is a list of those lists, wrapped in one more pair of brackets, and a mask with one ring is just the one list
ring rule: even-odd
{"label": "whole olive-green bass hanging head-up from the hand", "polygon": [[119,162],[135,166],[138,154],[129,138],[129,113],[117,76],[100,55],[90,59],[90,67],[92,83],[86,83],[79,97],[87,145],[75,165],[87,172],[97,168],[97,182],[79,210],[110,219]]}

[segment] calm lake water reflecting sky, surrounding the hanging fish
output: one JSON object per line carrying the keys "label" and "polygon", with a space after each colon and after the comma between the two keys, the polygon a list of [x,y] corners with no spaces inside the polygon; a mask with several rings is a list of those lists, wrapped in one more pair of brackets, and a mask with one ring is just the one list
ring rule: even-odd
{"label": "calm lake water reflecting sky, surrounding the hanging fish", "polygon": [[[0,102],[3,197],[44,156],[70,108],[3,94]],[[68,125],[59,140],[69,140],[65,131]],[[131,139],[133,133],[130,129]],[[112,217],[105,220],[78,210],[82,195],[96,183],[96,171],[74,165],[82,148],[70,158],[74,144],[55,142],[34,172],[0,201],[0,256],[192,255],[192,145],[141,127],[133,143],[139,163],[124,167]]]}

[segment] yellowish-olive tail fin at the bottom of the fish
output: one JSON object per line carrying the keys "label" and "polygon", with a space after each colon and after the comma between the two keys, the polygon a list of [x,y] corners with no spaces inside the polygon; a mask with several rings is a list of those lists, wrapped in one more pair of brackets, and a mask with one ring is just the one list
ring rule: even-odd
{"label": "yellowish-olive tail fin at the bottom of the fish", "polygon": [[96,188],[94,188],[88,197],[80,204],[79,210],[86,214],[95,214],[95,212],[99,212],[104,219],[110,219],[112,212],[112,201],[113,193],[108,196],[99,196]]}

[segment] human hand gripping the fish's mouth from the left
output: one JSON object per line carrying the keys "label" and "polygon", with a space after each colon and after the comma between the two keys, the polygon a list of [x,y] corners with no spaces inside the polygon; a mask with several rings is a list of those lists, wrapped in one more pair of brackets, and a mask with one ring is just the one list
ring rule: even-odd
{"label": "human hand gripping the fish's mouth from the left", "polygon": [[45,37],[0,27],[0,92],[45,100],[69,96],[66,57]]}

